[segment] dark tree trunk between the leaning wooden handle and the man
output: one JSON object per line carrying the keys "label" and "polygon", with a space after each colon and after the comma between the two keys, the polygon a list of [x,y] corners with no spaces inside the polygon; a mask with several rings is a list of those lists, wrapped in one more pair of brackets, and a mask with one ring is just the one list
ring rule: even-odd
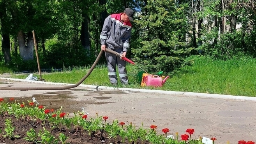
{"label": "dark tree trunk between the leaning wooden handle and the man", "polygon": [[87,14],[82,14],[83,22],[81,26],[81,44],[85,50],[88,51],[88,56],[90,55],[90,33],[88,28],[88,16]]}

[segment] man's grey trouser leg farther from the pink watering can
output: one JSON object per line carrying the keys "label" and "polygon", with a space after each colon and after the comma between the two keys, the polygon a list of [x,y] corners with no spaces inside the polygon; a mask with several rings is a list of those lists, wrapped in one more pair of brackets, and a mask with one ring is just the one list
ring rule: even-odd
{"label": "man's grey trouser leg farther from the pink watering can", "polygon": [[105,56],[108,65],[108,78],[110,83],[117,83],[117,73],[116,73],[116,60],[117,56],[105,51]]}

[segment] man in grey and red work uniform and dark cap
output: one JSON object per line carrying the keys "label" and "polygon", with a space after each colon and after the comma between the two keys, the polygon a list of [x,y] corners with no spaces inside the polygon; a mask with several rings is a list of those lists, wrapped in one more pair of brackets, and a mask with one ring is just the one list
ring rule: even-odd
{"label": "man in grey and red work uniform and dark cap", "polygon": [[[129,39],[131,37],[132,24],[134,11],[126,8],[120,14],[111,14],[105,21],[101,31],[101,50],[105,51],[106,48],[122,54],[122,58],[126,57],[127,50],[129,49]],[[127,70],[125,68],[126,62],[121,60],[120,57],[105,51],[106,60],[108,63],[108,77],[113,85],[117,85],[117,72],[122,84],[128,84]]]}

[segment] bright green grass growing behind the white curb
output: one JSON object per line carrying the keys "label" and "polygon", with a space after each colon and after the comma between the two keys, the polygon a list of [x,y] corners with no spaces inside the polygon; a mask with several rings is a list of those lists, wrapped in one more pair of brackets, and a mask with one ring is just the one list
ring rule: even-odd
{"label": "bright green grass growing behind the white curb", "polygon": [[[211,60],[205,57],[190,57],[193,66],[182,68],[171,76],[163,87],[141,87],[136,84],[138,69],[128,65],[127,71],[131,88],[160,89],[169,91],[189,91],[198,93],[231,94],[240,96],[256,96],[256,59]],[[77,83],[87,70],[78,68],[71,72],[44,74],[42,78],[50,82]],[[25,79],[27,75],[12,75],[13,78]],[[39,75],[35,75],[39,77]],[[83,84],[111,86],[106,67],[99,66]],[[122,86],[118,86],[122,87]]]}

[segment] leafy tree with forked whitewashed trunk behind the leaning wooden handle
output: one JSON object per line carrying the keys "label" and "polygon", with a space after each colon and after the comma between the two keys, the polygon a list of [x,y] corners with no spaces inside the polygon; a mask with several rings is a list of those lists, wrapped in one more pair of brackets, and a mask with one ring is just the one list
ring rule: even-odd
{"label": "leafy tree with forked whitewashed trunk behind the leaning wooden handle", "polygon": [[19,54],[23,60],[34,59],[34,30],[37,40],[52,38],[58,29],[56,7],[54,0],[3,0],[4,10],[9,15],[3,29],[10,29],[10,34],[18,38]]}

